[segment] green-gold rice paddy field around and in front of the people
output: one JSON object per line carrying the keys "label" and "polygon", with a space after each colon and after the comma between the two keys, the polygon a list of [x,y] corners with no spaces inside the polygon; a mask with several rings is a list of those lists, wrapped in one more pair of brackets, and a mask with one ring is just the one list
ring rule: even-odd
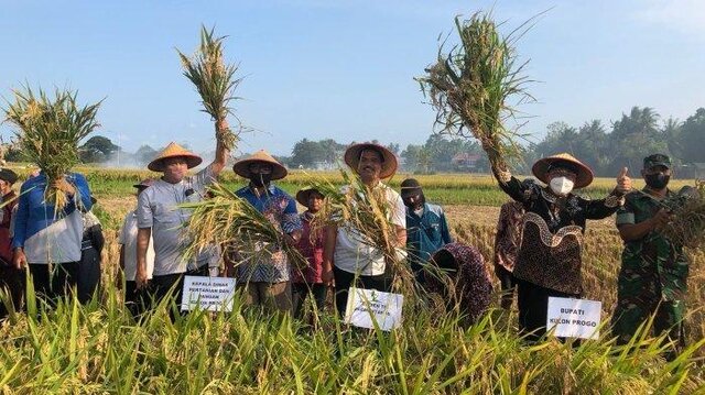
{"label": "green-gold rice paddy field around and in front of the people", "polygon": [[[527,344],[517,336],[516,310],[499,309],[497,295],[494,309],[469,327],[434,299],[417,298],[408,299],[403,328],[392,332],[345,328],[332,310],[312,328],[245,308],[239,299],[230,314],[193,312],[172,322],[162,308],[135,322],[116,281],[117,231],[135,204],[131,185],[155,174],[77,171],[87,175],[104,223],[102,290],[87,306],[66,300],[55,310],[30,297],[26,315],[13,314],[0,326],[2,393],[705,394],[702,252],[691,252],[688,347],[673,361],[663,358],[668,344],[646,331],[627,347],[615,345],[607,328],[596,341]],[[224,173],[229,187],[245,185]],[[340,180],[336,173],[292,172],[278,185],[294,193],[312,177]],[[391,185],[403,178],[397,175]],[[416,178],[429,201],[445,206],[456,239],[478,246],[491,270],[495,224],[507,200],[491,177]],[[598,179],[585,194],[597,198],[612,185]],[[589,223],[584,246],[585,296],[603,301],[606,322],[621,253],[612,221]]]}

